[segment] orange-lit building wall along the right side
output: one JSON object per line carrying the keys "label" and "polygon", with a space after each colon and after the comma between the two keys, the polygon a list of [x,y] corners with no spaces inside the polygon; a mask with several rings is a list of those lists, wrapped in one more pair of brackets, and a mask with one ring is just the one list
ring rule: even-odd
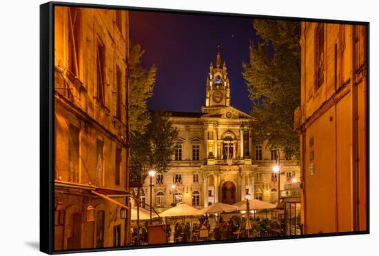
{"label": "orange-lit building wall along the right side", "polygon": [[367,26],[302,23],[296,110],[306,234],[367,228]]}

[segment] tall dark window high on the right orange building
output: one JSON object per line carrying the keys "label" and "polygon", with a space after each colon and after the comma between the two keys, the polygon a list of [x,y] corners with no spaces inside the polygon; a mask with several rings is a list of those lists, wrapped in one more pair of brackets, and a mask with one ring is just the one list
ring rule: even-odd
{"label": "tall dark window high on the right orange building", "polygon": [[316,72],[316,90],[322,86],[324,83],[324,64],[325,64],[325,54],[324,54],[324,24],[321,23],[316,27],[315,32],[316,37],[316,52],[315,52],[315,72]]}

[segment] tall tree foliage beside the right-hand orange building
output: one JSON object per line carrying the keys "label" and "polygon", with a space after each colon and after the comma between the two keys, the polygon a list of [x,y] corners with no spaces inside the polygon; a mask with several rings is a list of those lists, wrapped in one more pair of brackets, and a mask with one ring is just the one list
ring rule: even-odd
{"label": "tall tree foliage beside the right-hand orange building", "polygon": [[267,140],[287,157],[298,157],[294,110],[300,106],[300,23],[254,19],[254,28],[260,40],[250,43],[249,61],[243,62],[254,142]]}

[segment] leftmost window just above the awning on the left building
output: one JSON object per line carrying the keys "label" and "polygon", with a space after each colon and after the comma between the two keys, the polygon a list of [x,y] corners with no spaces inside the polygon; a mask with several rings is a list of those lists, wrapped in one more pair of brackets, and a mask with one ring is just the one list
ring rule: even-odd
{"label": "leftmost window just above the awning on the left building", "polygon": [[79,182],[79,128],[70,124],[68,143],[68,181]]}

